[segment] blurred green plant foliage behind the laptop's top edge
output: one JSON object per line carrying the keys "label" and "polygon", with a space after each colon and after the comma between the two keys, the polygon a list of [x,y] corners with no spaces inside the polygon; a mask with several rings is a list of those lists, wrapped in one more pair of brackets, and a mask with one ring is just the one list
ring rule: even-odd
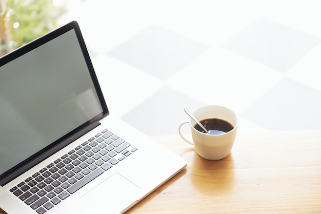
{"label": "blurred green plant foliage behind the laptop's top edge", "polygon": [[7,36],[14,48],[56,28],[56,20],[63,13],[63,7],[54,5],[52,0],[0,0],[0,4],[1,2],[5,5],[5,10],[3,13],[0,10],[0,24],[7,24]]}

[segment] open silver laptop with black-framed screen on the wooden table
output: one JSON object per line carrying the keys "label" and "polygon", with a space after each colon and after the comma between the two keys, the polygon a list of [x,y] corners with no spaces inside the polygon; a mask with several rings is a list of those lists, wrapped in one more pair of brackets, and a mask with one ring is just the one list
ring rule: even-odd
{"label": "open silver laptop with black-framed screen on the wooden table", "polygon": [[186,166],[109,115],[106,72],[98,81],[75,21],[0,58],[5,212],[124,213]]}

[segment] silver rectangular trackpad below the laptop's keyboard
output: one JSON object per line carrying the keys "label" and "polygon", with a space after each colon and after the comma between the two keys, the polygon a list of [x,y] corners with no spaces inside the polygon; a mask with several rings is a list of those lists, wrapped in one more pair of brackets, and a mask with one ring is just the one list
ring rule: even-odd
{"label": "silver rectangular trackpad below the laptop's keyboard", "polygon": [[138,186],[115,173],[84,194],[82,201],[91,207],[92,213],[121,213],[138,200],[139,191]]}

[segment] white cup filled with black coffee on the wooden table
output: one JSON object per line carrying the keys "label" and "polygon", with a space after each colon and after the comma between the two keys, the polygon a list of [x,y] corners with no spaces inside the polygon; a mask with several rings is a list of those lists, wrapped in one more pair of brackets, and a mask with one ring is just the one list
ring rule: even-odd
{"label": "white cup filled with black coffee on the wooden table", "polygon": [[[190,118],[179,125],[180,137],[194,145],[198,155],[204,159],[220,160],[227,157],[235,141],[238,126],[236,114],[229,108],[218,105],[202,106],[192,114],[208,129],[208,132]],[[192,139],[183,131],[183,126],[186,124],[191,127]]]}

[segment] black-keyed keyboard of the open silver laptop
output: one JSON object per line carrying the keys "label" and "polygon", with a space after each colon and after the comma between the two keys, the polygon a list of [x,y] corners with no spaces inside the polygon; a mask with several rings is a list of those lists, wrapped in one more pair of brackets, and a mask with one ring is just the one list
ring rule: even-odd
{"label": "black-keyed keyboard of the open silver laptop", "polygon": [[136,150],[104,129],[10,191],[37,213],[45,213]]}

